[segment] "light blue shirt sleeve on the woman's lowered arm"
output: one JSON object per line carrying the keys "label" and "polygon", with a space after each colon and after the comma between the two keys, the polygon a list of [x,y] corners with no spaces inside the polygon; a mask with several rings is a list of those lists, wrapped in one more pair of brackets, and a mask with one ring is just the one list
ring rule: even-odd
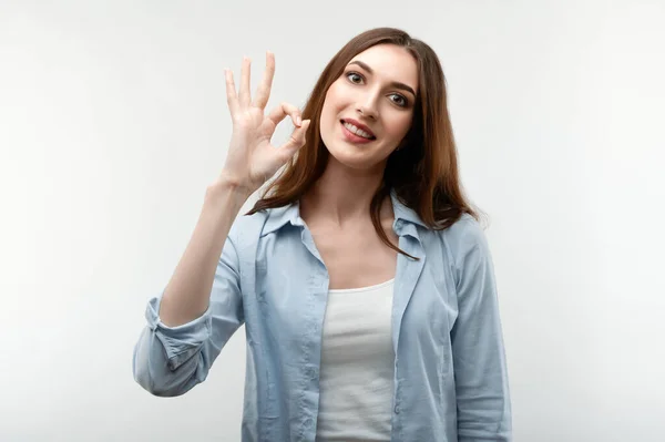
{"label": "light blue shirt sleeve on the woman's lowered arm", "polygon": [[458,318],[451,330],[460,442],[512,440],[508,368],[487,238],[466,223],[457,256]]}

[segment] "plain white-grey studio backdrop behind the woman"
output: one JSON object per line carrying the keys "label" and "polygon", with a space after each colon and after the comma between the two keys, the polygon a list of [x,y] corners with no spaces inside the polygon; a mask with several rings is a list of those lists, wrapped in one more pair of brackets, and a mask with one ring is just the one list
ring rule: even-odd
{"label": "plain white-grey studio backdrop behind the woman", "polygon": [[244,328],[184,397],[131,369],[224,163],[224,69],[255,86],[270,50],[268,110],[303,106],[390,25],[439,54],[489,215],[515,441],[663,441],[664,3],[0,1],[0,440],[239,440]]}

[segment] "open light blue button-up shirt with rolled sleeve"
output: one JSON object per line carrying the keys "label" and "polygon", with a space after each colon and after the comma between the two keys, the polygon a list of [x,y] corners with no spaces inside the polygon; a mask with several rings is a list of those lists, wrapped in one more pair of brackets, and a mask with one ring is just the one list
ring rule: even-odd
{"label": "open light blue button-up shirt with rolled sleeve", "polygon": [[[391,193],[399,247],[392,302],[391,441],[511,441],[508,369],[493,265],[463,215],[429,229]],[[219,257],[209,307],[166,327],[161,294],[134,348],[136,382],[180,395],[203,382],[245,325],[244,442],[315,441],[328,273],[297,203],[241,216]]]}

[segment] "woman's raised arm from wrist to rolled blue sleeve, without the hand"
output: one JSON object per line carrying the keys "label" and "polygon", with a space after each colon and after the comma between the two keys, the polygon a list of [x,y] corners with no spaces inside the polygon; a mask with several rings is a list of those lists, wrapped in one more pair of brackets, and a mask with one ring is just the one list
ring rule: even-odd
{"label": "woman's raised arm from wrist to rolled blue sleeve, without the hand", "polygon": [[134,348],[133,373],[155,395],[201,383],[243,323],[238,257],[231,226],[244,196],[208,188],[201,218],[166,289],[149,301],[147,326]]}

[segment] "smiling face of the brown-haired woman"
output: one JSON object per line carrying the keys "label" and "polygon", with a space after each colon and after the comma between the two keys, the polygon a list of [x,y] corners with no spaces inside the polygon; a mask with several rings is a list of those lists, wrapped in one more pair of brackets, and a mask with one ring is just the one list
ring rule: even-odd
{"label": "smiling face of the brown-haired woman", "polygon": [[321,111],[330,155],[356,169],[385,166],[409,132],[417,93],[418,66],[406,49],[379,44],[352,58]]}

